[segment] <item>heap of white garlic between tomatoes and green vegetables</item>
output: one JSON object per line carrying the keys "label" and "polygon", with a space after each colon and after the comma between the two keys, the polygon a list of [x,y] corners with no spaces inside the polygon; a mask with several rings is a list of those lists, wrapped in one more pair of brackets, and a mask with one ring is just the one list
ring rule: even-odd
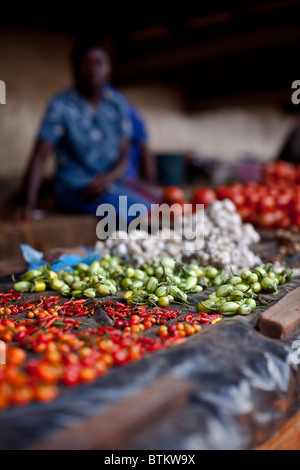
{"label": "heap of white garlic between tomatoes and green vegetables", "polygon": [[[181,234],[167,228],[150,235],[144,230],[112,232],[104,241],[98,241],[96,248],[102,254],[109,253],[128,259],[134,266],[152,263],[164,256],[179,262],[213,265],[228,272],[240,272],[245,268],[262,264],[261,259],[251,250],[260,236],[250,224],[243,224],[235,205],[229,201],[215,201],[205,211],[200,233],[193,235],[195,215],[183,218],[184,231]],[[198,226],[197,226],[198,229]],[[190,232],[189,232],[190,230]]]}

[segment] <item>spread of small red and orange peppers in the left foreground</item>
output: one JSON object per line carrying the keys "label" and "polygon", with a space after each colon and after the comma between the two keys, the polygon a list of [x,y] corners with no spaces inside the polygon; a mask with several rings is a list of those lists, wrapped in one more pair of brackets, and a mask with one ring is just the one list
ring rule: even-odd
{"label": "spread of small red and orange peppers in the left foreground", "polygon": [[[51,401],[61,384],[94,381],[112,366],[180,344],[199,332],[201,324],[221,319],[219,314],[205,313],[178,318],[182,312],[172,308],[107,301],[100,305],[114,326],[91,329],[74,318],[94,314],[95,303],[90,300],[22,299],[13,289],[0,293],[0,346],[6,343],[5,364],[0,365],[0,409]],[[144,335],[152,327],[157,327],[157,335]]]}

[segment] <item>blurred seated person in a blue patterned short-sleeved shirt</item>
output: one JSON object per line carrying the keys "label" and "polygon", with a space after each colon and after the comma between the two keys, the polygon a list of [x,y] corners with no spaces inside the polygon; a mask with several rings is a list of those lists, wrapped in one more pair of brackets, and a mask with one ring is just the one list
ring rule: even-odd
{"label": "blurred seated person in a blue patterned short-sleeved shirt", "polygon": [[74,85],[48,105],[22,187],[24,203],[15,217],[31,217],[51,151],[57,160],[57,209],[95,215],[100,204],[109,203],[118,215],[121,195],[127,196],[128,206],[139,202],[150,209],[151,198],[130,184],[132,176],[137,176],[130,166],[134,148],[144,153],[151,182],[152,162],[142,136],[138,142],[132,140],[134,109],[108,85],[110,60],[106,51],[93,39],[81,40],[73,49],[72,64]]}

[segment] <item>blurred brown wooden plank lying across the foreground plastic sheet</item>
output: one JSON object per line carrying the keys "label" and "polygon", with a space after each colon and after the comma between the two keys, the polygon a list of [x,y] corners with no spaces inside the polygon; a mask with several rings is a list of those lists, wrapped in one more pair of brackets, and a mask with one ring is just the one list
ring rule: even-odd
{"label": "blurred brown wooden plank lying across the foreground plastic sheet", "polygon": [[166,376],[105,412],[79,419],[72,427],[36,442],[30,450],[122,449],[187,401],[190,384]]}

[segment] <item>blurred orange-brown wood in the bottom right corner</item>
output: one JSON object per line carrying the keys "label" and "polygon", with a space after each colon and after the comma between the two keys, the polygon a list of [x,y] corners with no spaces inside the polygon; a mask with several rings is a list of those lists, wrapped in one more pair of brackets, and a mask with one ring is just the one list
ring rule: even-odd
{"label": "blurred orange-brown wood in the bottom right corner", "polygon": [[259,450],[300,450],[300,411]]}

